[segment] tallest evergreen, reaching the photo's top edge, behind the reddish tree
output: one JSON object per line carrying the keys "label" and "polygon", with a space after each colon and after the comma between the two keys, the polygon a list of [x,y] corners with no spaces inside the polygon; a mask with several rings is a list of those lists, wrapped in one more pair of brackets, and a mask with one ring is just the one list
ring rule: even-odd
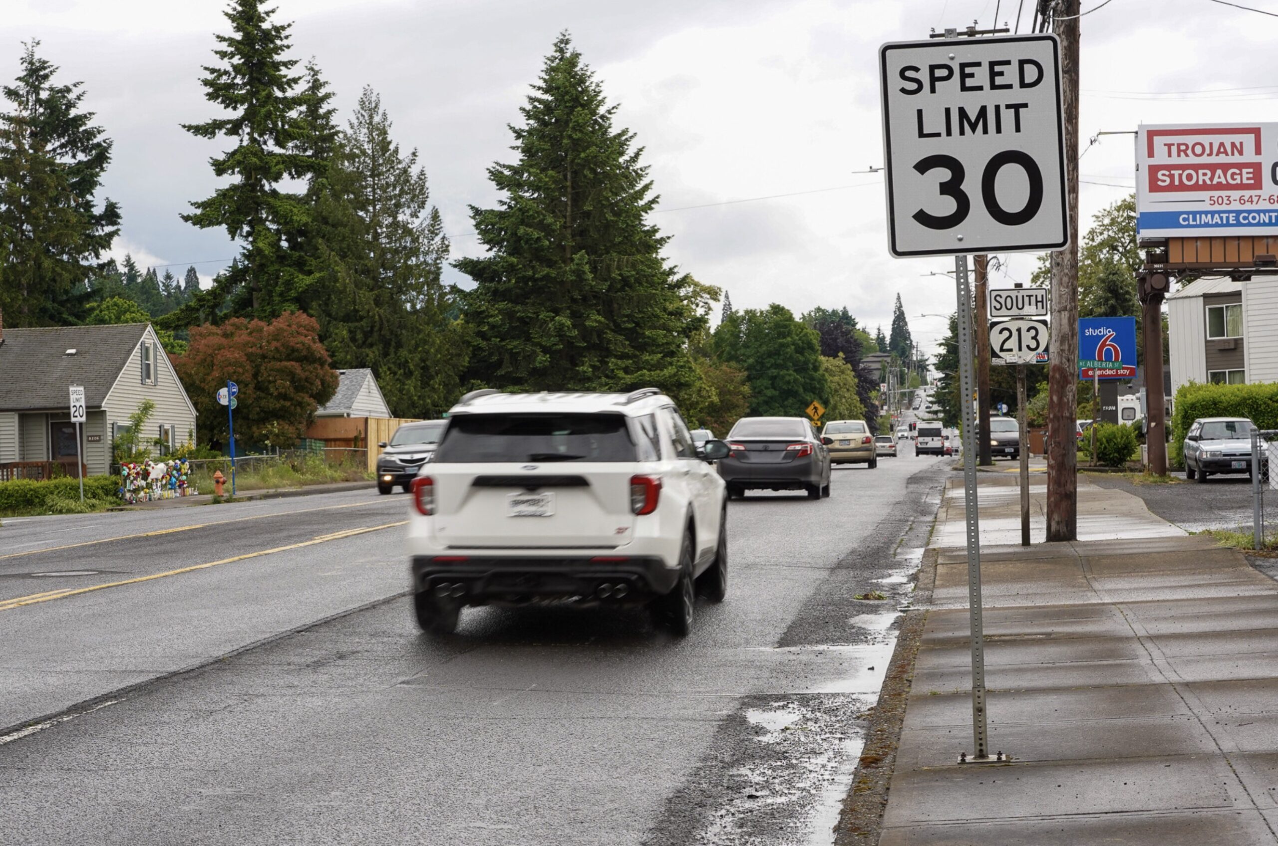
{"label": "tallest evergreen, reaching the photo's top edge, behind the reddish tree", "polygon": [[184,313],[208,312],[222,302],[235,314],[271,318],[295,308],[305,276],[285,242],[285,230],[298,229],[309,207],[298,194],[280,189],[285,179],[307,179],[318,166],[298,152],[307,135],[300,111],[304,95],[294,93],[302,77],[298,64],[285,59],[291,23],[271,23],[275,9],[262,0],[231,0],[224,13],[233,35],[215,35],[222,45],[213,55],[224,66],[204,66],[204,97],[231,112],[202,124],[183,124],[201,138],[226,137],[236,146],[211,160],[213,174],[233,176],[212,197],[192,202],[183,220],[201,229],[224,227],[244,248],[236,261],[213,280],[213,289],[196,298]]}

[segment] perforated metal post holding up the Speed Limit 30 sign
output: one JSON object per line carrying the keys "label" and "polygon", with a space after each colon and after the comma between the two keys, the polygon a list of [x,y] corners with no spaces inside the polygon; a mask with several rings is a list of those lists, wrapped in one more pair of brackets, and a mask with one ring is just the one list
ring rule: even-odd
{"label": "perforated metal post holding up the Speed Limit 30 sign", "polygon": [[975,751],[970,760],[988,760],[985,638],[980,597],[980,523],[976,514],[976,414],[971,406],[976,380],[971,365],[971,289],[967,285],[966,256],[955,256],[955,281],[958,288],[958,396],[962,406],[962,481],[964,507],[967,514],[967,613],[971,624],[971,732],[975,742]]}

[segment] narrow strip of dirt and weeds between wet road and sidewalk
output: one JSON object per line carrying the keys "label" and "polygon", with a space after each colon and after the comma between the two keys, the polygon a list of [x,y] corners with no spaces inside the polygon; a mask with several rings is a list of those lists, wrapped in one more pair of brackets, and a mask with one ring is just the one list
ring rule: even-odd
{"label": "narrow strip of dirt and weeds between wet road and sidewalk", "polygon": [[928,548],[919,567],[914,604],[906,611],[897,633],[896,649],[888,662],[887,676],[879,690],[878,703],[870,712],[865,746],[852,774],[852,787],[843,799],[843,809],[835,826],[835,846],[875,846],[883,829],[883,811],[896,767],[896,749],[901,740],[905,708],[914,682],[914,662],[928,621],[927,606],[937,579],[937,551]]}

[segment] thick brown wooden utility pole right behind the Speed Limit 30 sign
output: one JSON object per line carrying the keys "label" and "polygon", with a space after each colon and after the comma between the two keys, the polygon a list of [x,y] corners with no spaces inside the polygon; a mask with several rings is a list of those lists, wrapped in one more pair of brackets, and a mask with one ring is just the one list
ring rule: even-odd
{"label": "thick brown wooden utility pole right behind the Speed Limit 30 sign", "polygon": [[[1045,5],[1045,4],[1044,4]],[[1070,244],[1052,253],[1052,341],[1047,409],[1047,539],[1079,535],[1079,451],[1074,432],[1079,383],[1079,0],[1058,0],[1052,29],[1061,42],[1066,204]]]}

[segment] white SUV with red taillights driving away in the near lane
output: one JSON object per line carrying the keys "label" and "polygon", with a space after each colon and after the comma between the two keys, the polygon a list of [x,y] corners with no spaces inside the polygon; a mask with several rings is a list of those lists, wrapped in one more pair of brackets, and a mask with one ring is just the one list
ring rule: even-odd
{"label": "white SUV with red taillights driving away in the near lane", "polygon": [[423,630],[464,606],[651,604],[677,635],[697,589],[727,590],[727,488],[674,401],[631,394],[472,391],[413,481],[408,524]]}

